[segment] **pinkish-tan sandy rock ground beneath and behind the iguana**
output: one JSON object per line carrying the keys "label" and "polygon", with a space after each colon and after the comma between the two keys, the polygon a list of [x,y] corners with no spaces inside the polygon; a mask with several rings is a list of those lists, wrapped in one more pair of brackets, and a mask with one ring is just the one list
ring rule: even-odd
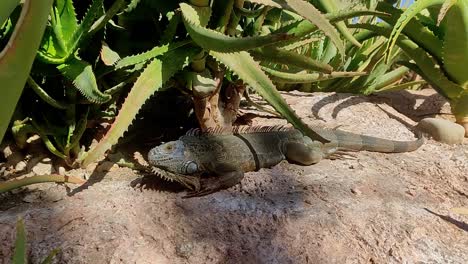
{"label": "pinkish-tan sandy rock ground beneath and behind the iguana", "polygon": [[[428,90],[284,96],[306,122],[398,140],[413,138],[406,126],[448,111]],[[252,122],[283,123],[268,116]],[[127,168],[71,171],[91,183],[0,197],[0,263],[9,263],[19,216],[31,263],[57,247],[57,263],[467,263],[468,216],[449,211],[468,207],[467,144],[283,162],[192,199],[151,176],[132,187],[142,175]]]}

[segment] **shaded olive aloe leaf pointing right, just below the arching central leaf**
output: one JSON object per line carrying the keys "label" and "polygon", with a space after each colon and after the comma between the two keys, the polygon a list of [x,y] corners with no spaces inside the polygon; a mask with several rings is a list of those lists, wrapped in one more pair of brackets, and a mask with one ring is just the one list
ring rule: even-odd
{"label": "shaded olive aloe leaf pointing right, just below the arching central leaf", "polygon": [[250,53],[255,58],[259,58],[261,60],[282,63],[290,66],[293,65],[311,71],[319,71],[323,73],[331,73],[333,71],[333,67],[326,63],[313,60],[308,56],[304,56],[289,50],[265,47],[251,50]]}

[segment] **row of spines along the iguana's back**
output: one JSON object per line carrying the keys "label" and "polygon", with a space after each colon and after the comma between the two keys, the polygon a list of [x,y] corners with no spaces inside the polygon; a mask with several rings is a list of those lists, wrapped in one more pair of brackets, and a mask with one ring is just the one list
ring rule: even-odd
{"label": "row of spines along the iguana's back", "polygon": [[235,127],[215,127],[202,131],[199,128],[190,129],[185,135],[187,136],[206,136],[206,135],[235,135],[235,134],[253,134],[253,133],[267,133],[278,131],[291,131],[292,127],[288,125],[275,125],[275,126],[235,126]]}

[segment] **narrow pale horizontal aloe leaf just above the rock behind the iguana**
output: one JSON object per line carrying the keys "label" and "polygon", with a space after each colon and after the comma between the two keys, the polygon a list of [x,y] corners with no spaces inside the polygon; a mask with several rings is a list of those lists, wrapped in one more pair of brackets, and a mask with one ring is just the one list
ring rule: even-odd
{"label": "narrow pale horizontal aloe leaf just above the rock behind the iguana", "polygon": [[262,69],[272,76],[274,81],[282,83],[312,83],[336,78],[363,76],[365,72],[331,72],[330,74],[323,73],[289,73],[277,71],[271,68],[262,67]]}

